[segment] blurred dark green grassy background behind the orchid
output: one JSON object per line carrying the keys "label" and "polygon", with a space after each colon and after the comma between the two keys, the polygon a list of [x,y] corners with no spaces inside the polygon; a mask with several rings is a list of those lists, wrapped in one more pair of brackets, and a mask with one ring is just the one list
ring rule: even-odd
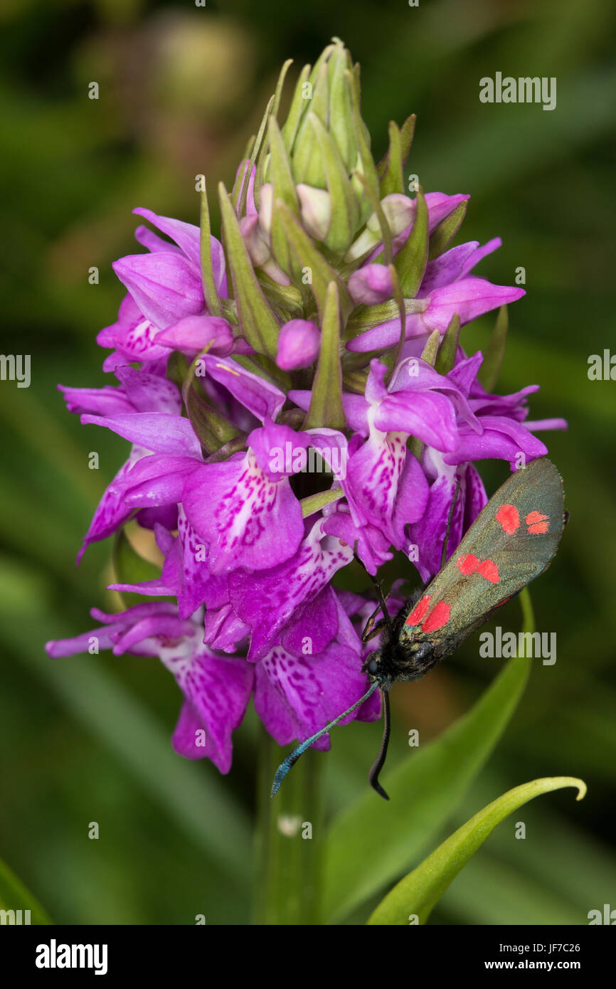
{"label": "blurred dark green grassy background behind the orchid", "polygon": [[[543,435],[571,523],[532,588],[537,627],[558,633],[558,661],[534,665],[447,833],[537,776],[579,775],[588,795],[524,808],[525,842],[513,840],[512,821],[501,825],[431,923],[585,924],[589,910],[616,906],[616,384],[587,378],[590,354],[616,352],[615,20],[611,0],[5,0],[2,349],[32,354],[32,385],[0,386],[0,856],[56,922],[249,919],[253,713],[220,777],[172,753],[180,695],[157,661],[44,654],[46,639],[92,627],[92,605],[118,606],[105,590],[109,542],[78,570],[74,557],[126,451],[119,437],[80,426],[55,384],[105,383],[95,334],[123,295],[112,260],[140,249],[132,208],[198,223],[194,176],[232,181],[281,63],[293,57],[298,71],[333,35],[362,63],[375,156],[389,121],[417,113],[407,172],[426,191],[472,195],[464,239],[502,236],[481,274],[512,284],[526,270],[498,391],[539,384],[532,417],[570,421],[569,432]],[[557,109],[481,104],[479,80],[495,71],[556,76]],[[93,265],[99,285],[88,284]],[[484,343],[491,321],[464,331],[467,349]],[[91,450],[99,471],[88,470]],[[482,471],[489,491],[504,479],[504,465]],[[517,605],[507,608],[502,625],[516,628]],[[438,735],[500,665],[479,658],[475,636],[425,680],[399,686],[392,762],[409,753],[408,727],[422,742]],[[378,738],[377,726],[337,732],[324,757],[329,811],[366,786]],[[87,838],[91,821],[99,841]]]}

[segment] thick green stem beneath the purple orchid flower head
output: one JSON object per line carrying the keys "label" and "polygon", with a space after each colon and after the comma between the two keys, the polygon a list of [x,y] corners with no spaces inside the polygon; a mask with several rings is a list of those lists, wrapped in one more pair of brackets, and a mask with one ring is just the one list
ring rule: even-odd
{"label": "thick green stem beneath the purple orchid flower head", "polygon": [[[256,924],[318,924],[321,889],[321,753],[298,761],[270,797],[283,750],[260,728],[257,773]],[[311,837],[309,837],[311,835]]]}

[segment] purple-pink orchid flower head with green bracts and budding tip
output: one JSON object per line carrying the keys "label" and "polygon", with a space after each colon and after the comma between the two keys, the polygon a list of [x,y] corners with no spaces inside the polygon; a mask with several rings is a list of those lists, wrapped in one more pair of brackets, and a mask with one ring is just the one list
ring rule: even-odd
{"label": "purple-pink orchid flower head with green bracts and budding tip", "polygon": [[151,600],[94,609],[98,630],[47,651],[94,637],[158,657],[184,695],[175,749],[221,772],[251,697],[285,745],[366,691],[374,602],[334,576],[356,558],[376,575],[395,549],[429,580],[448,520],[451,553],[484,506],[476,462],[514,469],[547,452],[538,429],[564,426],[526,420],[536,386],[484,388],[460,327],[523,290],[474,274],[499,239],[449,246],[468,196],[405,195],[412,118],[375,164],[358,80],[334,41],[281,127],[281,78],[231,194],[220,186],[221,243],[206,194],[201,227],[134,211],[146,250],[115,263],[127,296],[98,336],[118,384],[60,387],[82,422],[132,444],[80,556],[135,519],[164,564],[111,584]]}

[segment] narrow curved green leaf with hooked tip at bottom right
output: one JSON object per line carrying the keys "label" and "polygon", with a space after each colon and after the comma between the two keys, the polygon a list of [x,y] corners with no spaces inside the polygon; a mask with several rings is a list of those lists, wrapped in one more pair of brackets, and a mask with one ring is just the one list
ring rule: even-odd
{"label": "narrow curved green leaf with hooked tip at bottom right", "polygon": [[581,800],[586,792],[586,784],[574,776],[547,776],[507,790],[404,876],[381,901],[368,923],[406,926],[409,915],[415,914],[419,924],[425,924],[450,882],[481,848],[497,824],[529,800],[566,786],[577,787],[576,800]]}

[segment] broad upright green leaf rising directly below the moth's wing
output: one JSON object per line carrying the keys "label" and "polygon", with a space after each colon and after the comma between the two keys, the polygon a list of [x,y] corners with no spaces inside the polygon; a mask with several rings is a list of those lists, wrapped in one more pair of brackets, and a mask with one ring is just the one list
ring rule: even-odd
{"label": "broad upright green leaf rising directly below the moth's wing", "polygon": [[325,848],[324,916],[330,922],[396,879],[443,827],[504,732],[530,662],[510,660],[468,714],[386,773],[389,802],[366,788],[334,819]]}

